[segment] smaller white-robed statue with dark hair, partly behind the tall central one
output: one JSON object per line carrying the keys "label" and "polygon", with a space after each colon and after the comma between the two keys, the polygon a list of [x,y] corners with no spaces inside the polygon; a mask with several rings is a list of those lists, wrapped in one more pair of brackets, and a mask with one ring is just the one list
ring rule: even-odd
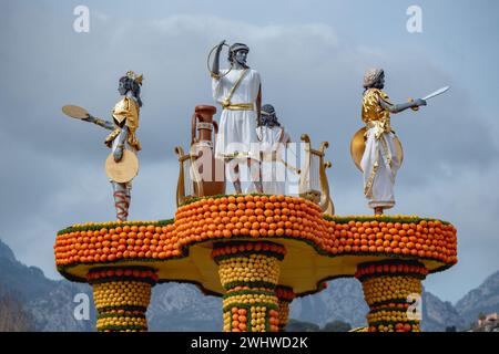
{"label": "smaller white-robed statue with dark hair, partly behind the tall central one", "polygon": [[262,125],[257,127],[256,135],[261,140],[263,190],[269,195],[285,195],[287,168],[284,162],[291,137],[269,104],[262,107]]}

